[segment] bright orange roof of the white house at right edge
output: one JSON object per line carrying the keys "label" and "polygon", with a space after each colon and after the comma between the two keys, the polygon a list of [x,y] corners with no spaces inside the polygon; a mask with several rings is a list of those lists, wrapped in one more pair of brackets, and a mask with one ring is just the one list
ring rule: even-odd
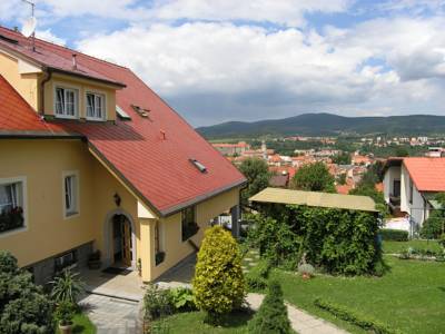
{"label": "bright orange roof of the white house at right edge", "polygon": [[409,157],[403,164],[419,191],[445,191],[445,158]]}

